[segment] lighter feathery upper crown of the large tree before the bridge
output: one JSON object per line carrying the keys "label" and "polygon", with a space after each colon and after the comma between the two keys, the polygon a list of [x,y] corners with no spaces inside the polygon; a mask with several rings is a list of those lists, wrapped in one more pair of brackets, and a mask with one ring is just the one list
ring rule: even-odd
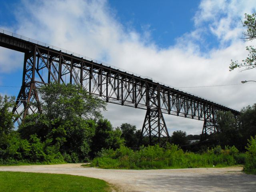
{"label": "lighter feathery upper crown of the large tree before the bridge", "polygon": [[40,106],[43,114],[53,119],[70,119],[74,116],[99,119],[102,118],[101,110],[106,110],[106,102],[81,86],[53,83],[43,86],[38,92],[42,98]]}

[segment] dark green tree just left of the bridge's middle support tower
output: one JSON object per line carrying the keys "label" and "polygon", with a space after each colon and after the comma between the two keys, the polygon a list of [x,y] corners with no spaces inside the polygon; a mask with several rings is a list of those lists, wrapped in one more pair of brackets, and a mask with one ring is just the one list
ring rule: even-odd
{"label": "dark green tree just left of the bridge's middle support tower", "polygon": [[120,126],[120,130],[122,131],[121,137],[124,138],[124,143],[126,147],[138,147],[141,131],[137,130],[136,126],[128,123],[123,123]]}

